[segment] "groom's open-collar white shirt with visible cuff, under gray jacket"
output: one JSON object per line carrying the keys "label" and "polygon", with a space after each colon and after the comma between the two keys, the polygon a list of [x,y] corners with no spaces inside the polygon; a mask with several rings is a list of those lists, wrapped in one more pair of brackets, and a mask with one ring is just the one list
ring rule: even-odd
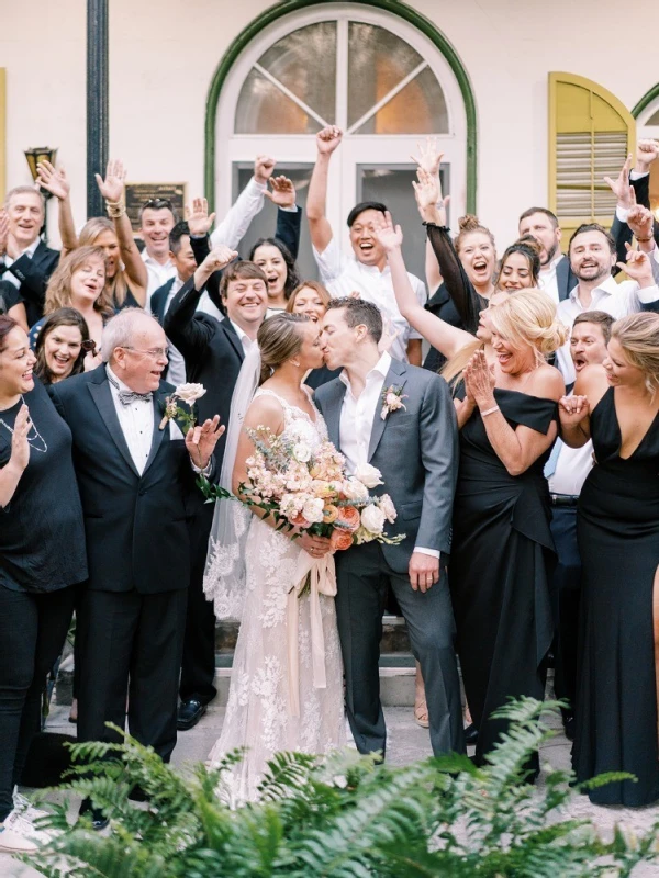
{"label": "groom's open-collar white shirt with visible cuff, under gray jacket", "polygon": [[[355,396],[350,385],[348,373],[344,369],[339,381],[346,385],[343,405],[340,409],[340,420],[338,435],[340,440],[340,451],[346,459],[348,473],[364,463],[368,463],[368,448],[373,429],[376,413],[382,407],[382,387],[391,367],[391,357],[387,351],[380,357],[371,371],[367,374],[364,390],[359,396]],[[384,485],[387,487],[387,485]],[[421,552],[433,558],[439,558],[436,549],[424,549],[415,545],[415,552]]]}

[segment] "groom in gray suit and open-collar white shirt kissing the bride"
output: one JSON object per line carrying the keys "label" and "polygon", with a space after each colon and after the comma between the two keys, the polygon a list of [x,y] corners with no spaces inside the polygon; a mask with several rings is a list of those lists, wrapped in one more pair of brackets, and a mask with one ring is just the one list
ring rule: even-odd
{"label": "groom in gray suit and open-collar white shirt kissing the bride", "polygon": [[[387,532],[405,534],[398,545],[371,542],[335,555],[348,719],[360,753],[384,754],[378,660],[390,583],[407,622],[412,652],[421,662],[433,752],[463,753],[445,567],[458,470],[455,409],[440,378],[380,354],[381,335],[382,317],[372,303],[334,299],[327,306],[322,331],[325,362],[344,371],[319,387],[316,404],[348,472],[366,464],[380,470],[384,484],[377,491],[388,493],[398,510]],[[393,394],[389,406],[387,392]],[[395,407],[399,403],[404,407]]]}

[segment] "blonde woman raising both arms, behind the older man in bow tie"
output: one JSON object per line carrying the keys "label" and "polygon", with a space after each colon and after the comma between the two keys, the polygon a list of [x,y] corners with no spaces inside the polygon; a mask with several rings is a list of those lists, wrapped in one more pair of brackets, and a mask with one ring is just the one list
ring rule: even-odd
{"label": "blonde woman raising both arms, behind the older man in bow tie", "polygon": [[78,247],[100,247],[105,256],[105,288],[114,311],[144,307],[148,274],[126,215],[126,172],[121,161],[109,161],[103,180],[97,173],[99,191],[105,199],[108,217],[94,216],[76,235],[70,205],[70,184],[64,168],[48,161],[38,165],[38,184],[58,200],[62,258]]}

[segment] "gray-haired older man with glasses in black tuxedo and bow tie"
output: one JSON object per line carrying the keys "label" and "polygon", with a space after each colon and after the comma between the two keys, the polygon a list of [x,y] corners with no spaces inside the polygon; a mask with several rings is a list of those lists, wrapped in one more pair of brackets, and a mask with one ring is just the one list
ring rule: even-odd
{"label": "gray-haired older man with glasses in black tuxedo and bow tie", "polygon": [[104,363],[54,385],[74,437],[87,536],[89,584],[78,608],[78,738],[113,740],[129,727],[169,761],[190,578],[187,513],[196,472],[217,476],[219,417],[186,437],[161,423],[172,387],[160,381],[167,339],[129,308],[103,331]]}

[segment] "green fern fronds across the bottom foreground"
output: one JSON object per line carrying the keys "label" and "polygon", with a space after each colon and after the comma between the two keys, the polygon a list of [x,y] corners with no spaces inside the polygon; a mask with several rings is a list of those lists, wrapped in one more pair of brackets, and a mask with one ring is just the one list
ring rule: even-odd
{"label": "green fern fronds across the bottom foreground", "polygon": [[[523,780],[528,757],[554,734],[543,714],[556,711],[533,699],[499,711],[509,731],[482,768],[455,755],[392,768],[347,751],[322,763],[279,753],[259,802],[235,810],[223,803],[222,770],[239,753],[217,772],[182,774],[127,736],[77,744],[80,765],[64,788],[91,797],[113,832],[69,828],[66,804],[53,807],[49,823],[64,832],[40,852],[38,868],[48,878],[628,876],[655,859],[659,824],[639,840],[616,831],[605,842],[588,821],[557,815],[573,795],[570,773],[550,770],[541,790]],[[129,801],[134,785],[148,795],[146,809]]]}

